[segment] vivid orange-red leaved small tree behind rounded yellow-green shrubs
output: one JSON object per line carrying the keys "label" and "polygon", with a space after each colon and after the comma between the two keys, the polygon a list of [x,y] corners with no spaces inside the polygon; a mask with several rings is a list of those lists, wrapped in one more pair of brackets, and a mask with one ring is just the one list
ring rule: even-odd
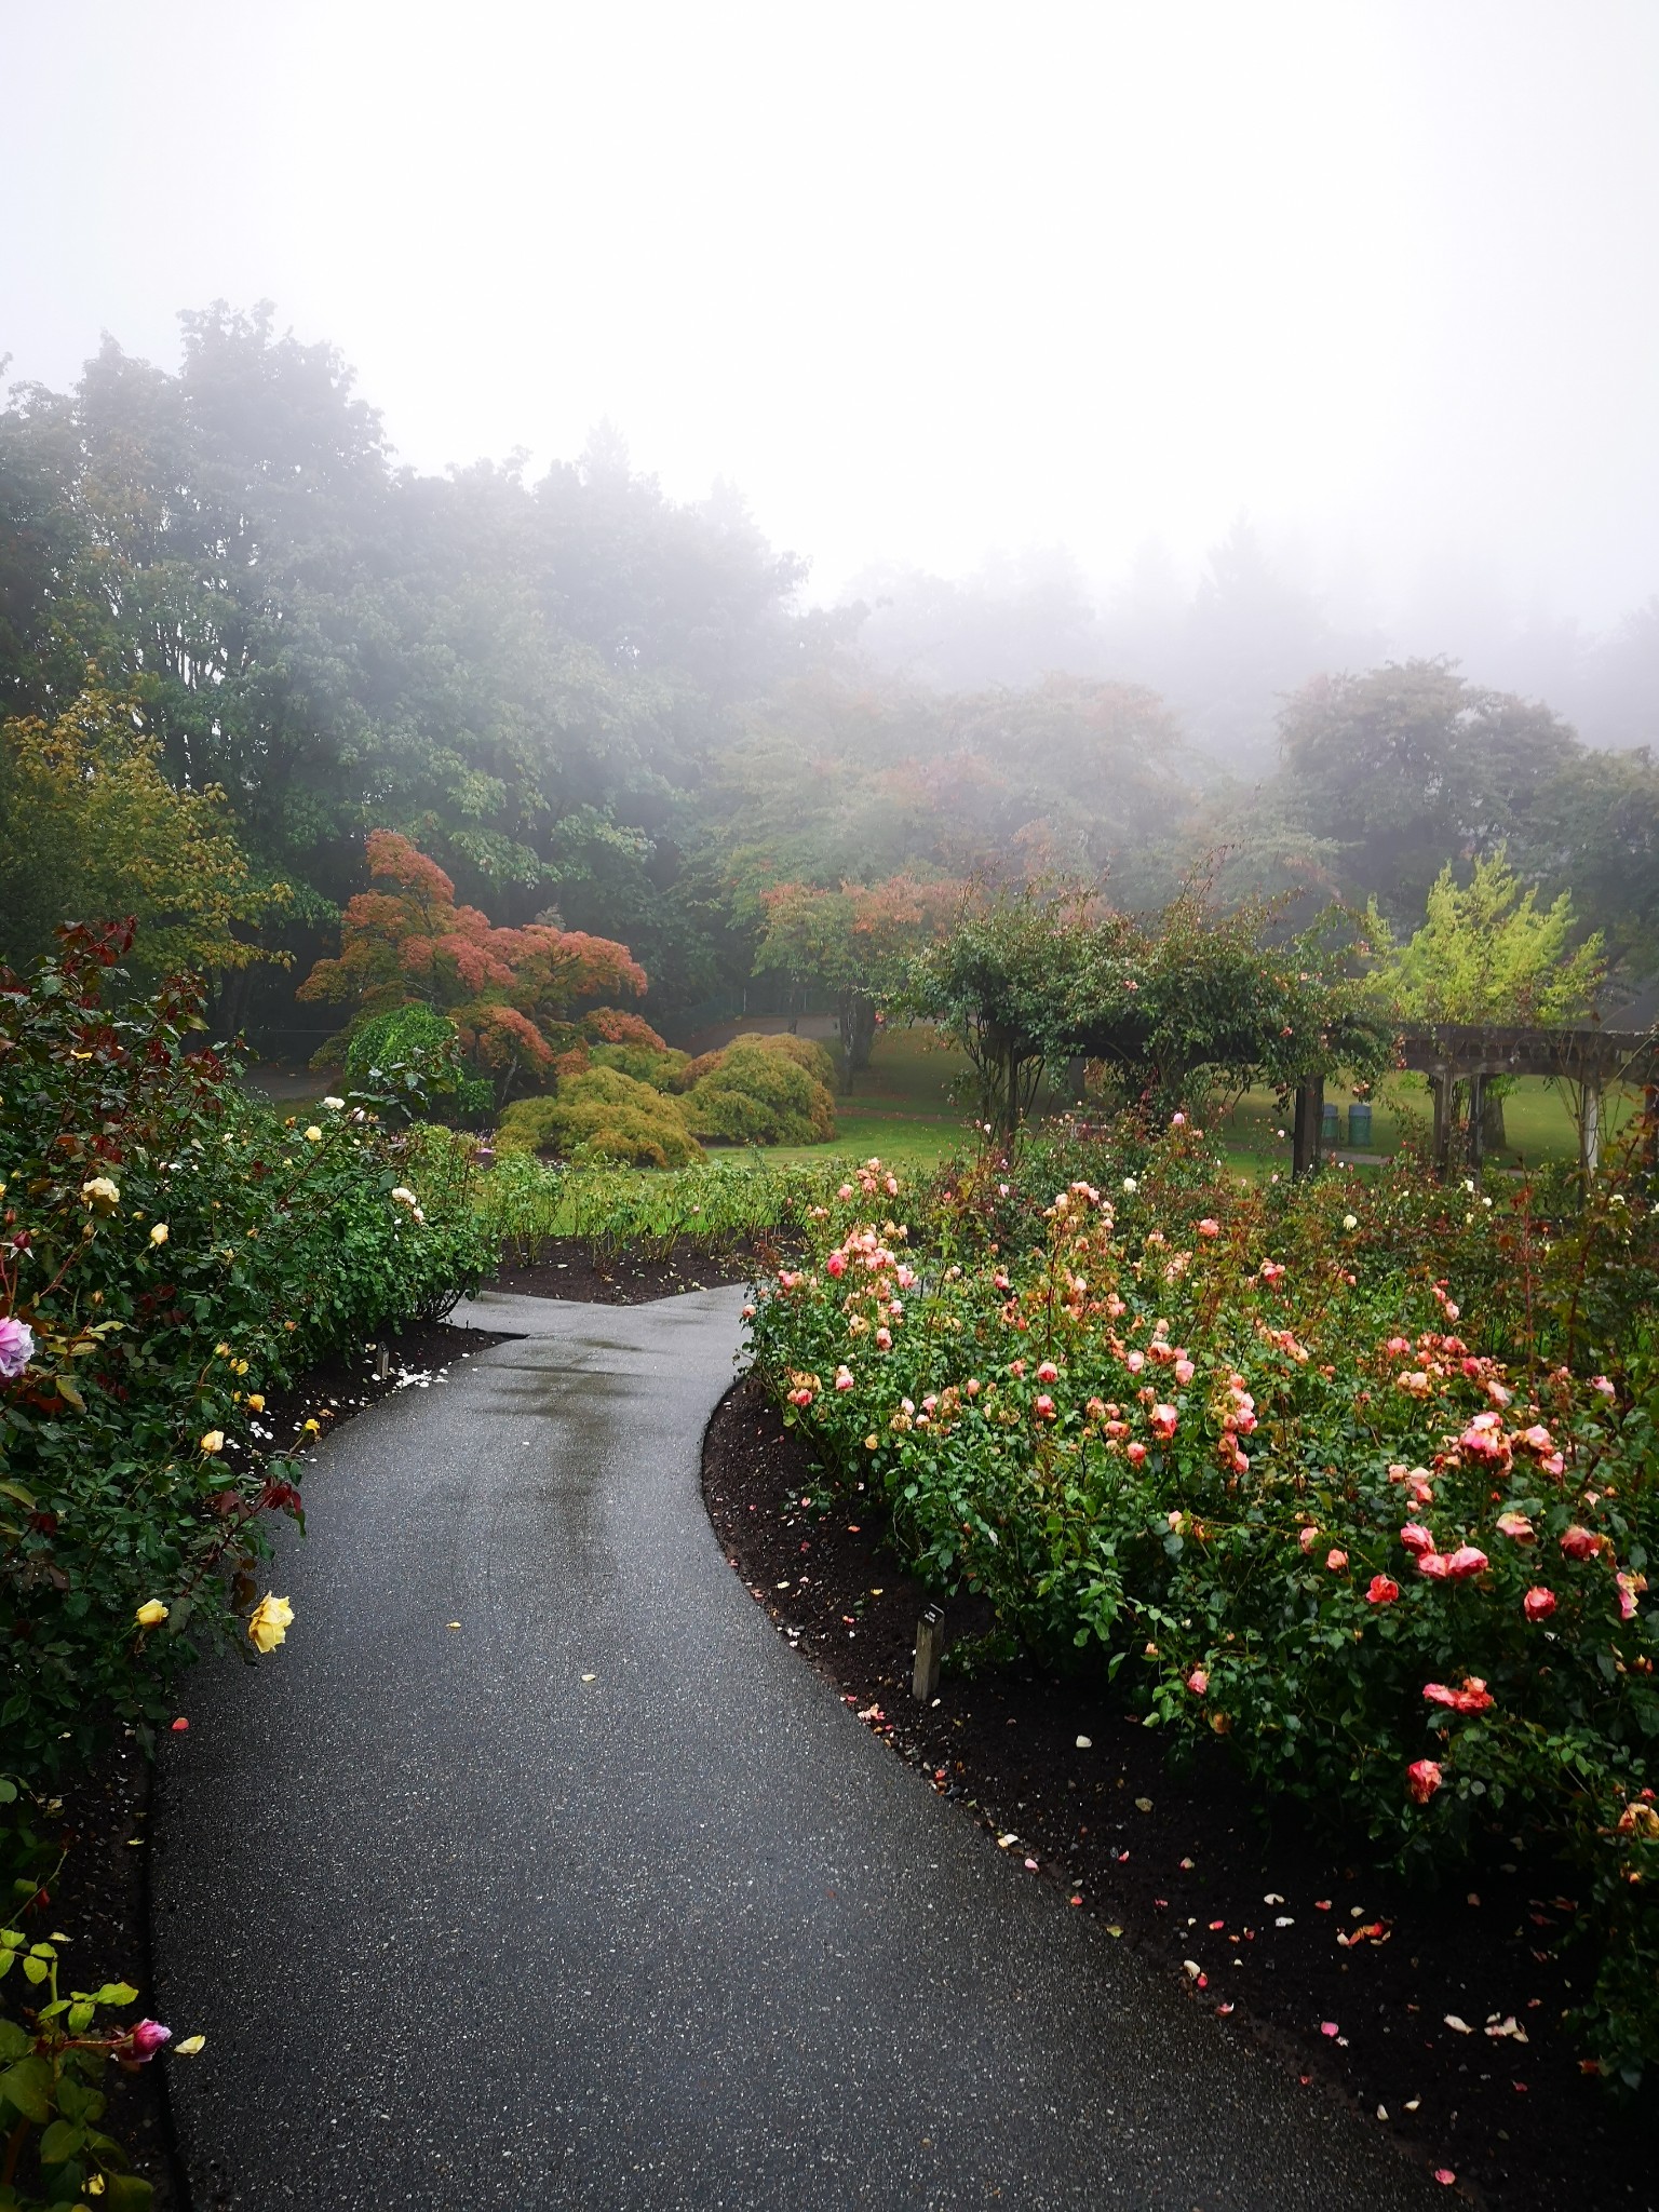
{"label": "vivid orange-red leaved small tree behind rounded yellow-green shrubs", "polygon": [[[367,858],[369,889],[345,909],[341,956],[319,960],[299,998],[356,1004],[356,1020],[434,1006],[498,1099],[520,1077],[546,1077],[582,1042],[577,1006],[646,989],[646,971],[613,938],[551,922],[498,929],[478,907],[458,907],[449,876],[396,830],[372,830]],[[637,1015],[599,1006],[588,1020],[608,1035]]]}

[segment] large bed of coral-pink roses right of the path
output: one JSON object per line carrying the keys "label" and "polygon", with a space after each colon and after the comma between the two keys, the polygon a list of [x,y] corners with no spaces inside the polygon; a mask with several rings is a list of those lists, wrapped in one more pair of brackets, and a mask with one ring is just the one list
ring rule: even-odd
{"label": "large bed of coral-pink roses right of the path", "polygon": [[1241,1188],[1181,1121],[987,1155],[902,1219],[872,1161],[752,1349],[931,1584],[1148,1725],[1225,1736],[1407,1867],[1500,1836],[1571,1858],[1601,1944],[1582,2028],[1635,2086],[1659,2057],[1652,1212],[1637,1186],[1577,1223],[1495,1190]]}

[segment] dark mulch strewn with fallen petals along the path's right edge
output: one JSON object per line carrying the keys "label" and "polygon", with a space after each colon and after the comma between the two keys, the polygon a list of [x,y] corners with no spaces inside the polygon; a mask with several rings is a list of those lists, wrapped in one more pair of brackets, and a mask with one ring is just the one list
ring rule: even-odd
{"label": "dark mulch strewn with fallen petals along the path's right edge", "polygon": [[[938,1703],[916,1705],[925,1593],[885,1546],[874,1504],[818,1511],[803,1504],[814,1489],[801,1438],[741,1383],[703,1449],[703,1498],[732,1566],[865,1725],[993,1836],[1018,1838],[1006,1849],[1033,1878],[1060,1882],[1234,2033],[1267,2042],[1310,2090],[1383,2108],[1407,2157],[1453,2170],[1467,2192],[1506,2212],[1659,2205],[1650,2124],[1613,2108],[1562,2031],[1588,1960],[1546,1949],[1571,1920],[1559,1867],[1493,1860],[1422,1893],[1374,1871],[1360,1847],[1332,1856],[1305,1814],[1265,1816],[1219,1745],[1177,1770],[1097,1677],[1020,1661],[962,1670],[991,1626],[982,1601],[947,1608],[958,1648]],[[1338,1944],[1378,1922],[1385,1940]],[[1447,2026],[1449,2013],[1471,2033]],[[1511,2017],[1524,2044],[1484,2033]]]}

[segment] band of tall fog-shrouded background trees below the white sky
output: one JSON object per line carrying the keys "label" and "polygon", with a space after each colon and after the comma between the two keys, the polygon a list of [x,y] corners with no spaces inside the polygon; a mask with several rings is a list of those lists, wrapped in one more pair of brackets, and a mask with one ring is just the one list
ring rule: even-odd
{"label": "band of tall fog-shrouded background trees below the white sky", "polygon": [[608,427],[540,476],[420,476],[270,307],[181,321],[177,372],[106,341],[0,414],[13,962],[122,902],[212,969],[223,1026],[301,1035],[396,832],[489,925],[626,947],[655,1022],[759,989],[863,1024],[834,900],[933,914],[987,876],[1150,911],[1197,869],[1411,936],[1444,867],[1502,852],[1571,889],[1615,998],[1659,967],[1659,599],[1540,633],[1551,681],[1513,688],[1345,626],[1245,520],[1197,588],[1148,551],[1097,599],[1053,553],[814,611],[737,493],[670,500]]}

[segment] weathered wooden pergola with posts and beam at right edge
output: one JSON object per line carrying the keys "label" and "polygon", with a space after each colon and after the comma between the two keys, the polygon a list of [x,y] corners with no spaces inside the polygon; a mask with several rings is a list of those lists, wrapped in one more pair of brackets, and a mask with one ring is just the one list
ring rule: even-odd
{"label": "weathered wooden pergola with posts and beam at right edge", "polygon": [[[1482,1091],[1493,1075],[1546,1075],[1577,1099],[1579,1166],[1595,1175],[1601,1159],[1601,1093],[1608,1084],[1641,1084],[1648,1121],[1659,1119],[1659,1033],[1646,1029],[1520,1029],[1482,1022],[1440,1022],[1400,1035],[1396,1066],[1427,1075],[1433,1088],[1433,1166],[1447,1172],[1453,1137],[1453,1086],[1469,1084],[1469,1146],[1464,1161],[1480,1166]],[[1296,1093],[1292,1175],[1318,1166],[1325,1082],[1314,1077]]]}

